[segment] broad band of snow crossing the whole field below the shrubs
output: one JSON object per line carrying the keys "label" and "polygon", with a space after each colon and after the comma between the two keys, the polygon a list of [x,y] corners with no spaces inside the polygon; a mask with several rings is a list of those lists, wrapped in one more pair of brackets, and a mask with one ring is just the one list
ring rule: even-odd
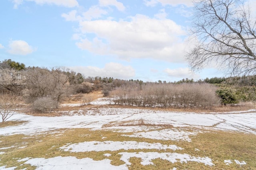
{"label": "broad band of snow crossing the whole field below the shrubs", "polygon": [[[105,128],[106,130],[112,129],[120,132],[136,132],[151,131],[152,129],[157,130],[159,128],[157,125],[173,125],[176,128],[189,127],[256,134],[256,114],[254,112],[210,114],[100,107],[96,109],[83,108],[80,110],[80,113],[82,115],[74,115],[72,111],[70,111],[70,115],[59,117],[32,116],[16,113],[10,120],[27,122],[17,126],[3,127],[1,128],[0,135],[33,135],[62,128],[93,128],[94,130],[102,130]],[[152,126],[118,126],[124,124],[124,122],[138,121],[140,119],[152,124]],[[106,124],[108,124],[108,127],[102,128],[102,126]],[[162,132],[168,135],[167,131]],[[198,131],[191,133],[198,133]],[[174,135],[172,139],[177,138],[178,140],[183,140],[180,139],[181,137],[178,131],[175,132],[174,130],[170,135]],[[188,141],[189,139],[186,137],[187,135],[184,132],[184,140]],[[163,136],[162,139],[164,138]]]}

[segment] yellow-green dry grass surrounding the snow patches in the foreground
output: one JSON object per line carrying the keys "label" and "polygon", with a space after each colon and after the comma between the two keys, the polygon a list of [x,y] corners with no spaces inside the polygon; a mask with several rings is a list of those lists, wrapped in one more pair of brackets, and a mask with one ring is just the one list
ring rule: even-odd
{"label": "yellow-green dry grass surrounding the snow patches in the foreground", "polygon": [[[0,154],[1,166],[7,167],[17,166],[17,169],[28,168],[35,169],[29,164],[24,162],[17,162],[17,158],[53,158],[56,156],[75,156],[76,158],[93,158],[94,160],[103,160],[106,158],[104,153],[110,153],[108,159],[112,160],[111,164],[121,165],[124,164],[120,160],[120,152],[177,152],[180,154],[190,154],[195,157],[206,157],[212,159],[215,166],[206,166],[197,162],[172,164],[166,160],[155,159],[155,165],[142,166],[139,158],[131,158],[132,165],[130,170],[170,170],[174,167],[177,169],[209,169],[209,170],[237,170],[237,169],[256,169],[256,135],[243,134],[243,133],[230,133],[224,131],[212,131],[208,133],[199,133],[192,138],[192,142],[185,141],[161,141],[154,139],[124,137],[121,134],[112,131],[90,131],[90,129],[60,129],[57,134],[48,135],[12,135],[2,136],[0,148],[16,146],[10,149],[3,149],[6,152]],[[61,134],[61,135],[60,135]],[[129,133],[125,133],[129,134]],[[102,139],[102,137],[106,137]],[[163,145],[177,145],[184,148],[184,150],[156,150],[156,149],[130,149],[118,151],[102,151],[102,152],[65,152],[59,148],[67,143],[79,143],[84,141],[138,141],[148,143],[162,143]],[[25,147],[26,146],[26,147]],[[19,149],[19,147],[25,147]],[[195,150],[195,149],[199,149]],[[224,160],[240,160],[245,161],[247,164],[240,167],[235,163],[229,166],[224,163]],[[233,161],[234,162],[234,161]],[[23,164],[23,165],[22,165]]]}

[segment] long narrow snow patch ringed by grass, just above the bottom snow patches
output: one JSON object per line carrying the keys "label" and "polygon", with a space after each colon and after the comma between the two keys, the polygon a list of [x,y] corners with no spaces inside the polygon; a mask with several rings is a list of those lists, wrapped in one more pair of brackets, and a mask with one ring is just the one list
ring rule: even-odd
{"label": "long narrow snow patch ringed by grass, just above the bottom snow patches", "polygon": [[90,141],[76,144],[68,144],[60,149],[69,152],[90,152],[90,151],[105,151],[105,150],[129,150],[129,149],[158,149],[158,150],[182,150],[182,148],[176,145],[162,145],[161,143],[147,143],[147,142],[136,142],[136,141]]}

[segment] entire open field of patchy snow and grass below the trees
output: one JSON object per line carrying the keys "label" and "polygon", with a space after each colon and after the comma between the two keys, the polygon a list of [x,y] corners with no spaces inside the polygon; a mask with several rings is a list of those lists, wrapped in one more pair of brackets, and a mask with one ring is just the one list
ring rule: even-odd
{"label": "entire open field of patchy snow and grass below the trees", "polygon": [[62,105],[0,123],[0,169],[256,169],[256,110]]}

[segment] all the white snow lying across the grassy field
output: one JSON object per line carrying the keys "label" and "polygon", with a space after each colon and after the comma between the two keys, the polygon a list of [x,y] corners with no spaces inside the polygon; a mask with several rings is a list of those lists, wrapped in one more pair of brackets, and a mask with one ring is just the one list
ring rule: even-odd
{"label": "all the white snow lying across the grassy field", "polygon": [[[92,104],[109,104],[110,99],[98,99]],[[230,113],[188,113],[173,111],[157,111],[151,109],[126,109],[126,108],[81,108],[80,110],[66,111],[63,116],[44,117],[32,116],[24,113],[16,113],[9,120],[26,121],[21,125],[0,128],[0,135],[35,135],[54,133],[53,130],[64,128],[90,128],[93,130],[107,130],[123,133],[123,136],[149,138],[158,140],[191,141],[191,136],[202,133],[205,130],[237,131],[256,135],[256,110],[248,110]],[[127,122],[143,120],[153,126],[129,126]],[[126,124],[126,126],[124,126]],[[162,128],[163,125],[173,125],[174,128]],[[60,131],[56,133],[61,133]],[[104,137],[102,138],[104,139]],[[129,149],[157,149],[157,150],[182,150],[176,145],[162,145],[161,143],[146,143],[136,141],[90,141],[76,144],[66,144],[60,150],[68,152],[88,151],[113,151]],[[13,146],[18,147],[18,146]],[[1,149],[0,149],[1,151]],[[0,152],[4,154],[4,152]],[[131,157],[141,158],[142,165],[153,164],[152,160],[161,158],[169,162],[195,161],[207,166],[214,166],[211,158],[194,157],[188,154],[176,152],[120,152],[120,160],[125,164],[114,166],[110,164],[109,156],[104,154],[104,160],[92,160],[91,158],[78,159],[72,156],[57,156],[55,158],[26,158],[24,164],[36,166],[38,170],[50,169],[109,169],[126,170],[130,165]],[[227,165],[246,164],[243,160],[223,160]],[[85,166],[86,165],[86,166]],[[14,169],[0,166],[0,169]]]}

